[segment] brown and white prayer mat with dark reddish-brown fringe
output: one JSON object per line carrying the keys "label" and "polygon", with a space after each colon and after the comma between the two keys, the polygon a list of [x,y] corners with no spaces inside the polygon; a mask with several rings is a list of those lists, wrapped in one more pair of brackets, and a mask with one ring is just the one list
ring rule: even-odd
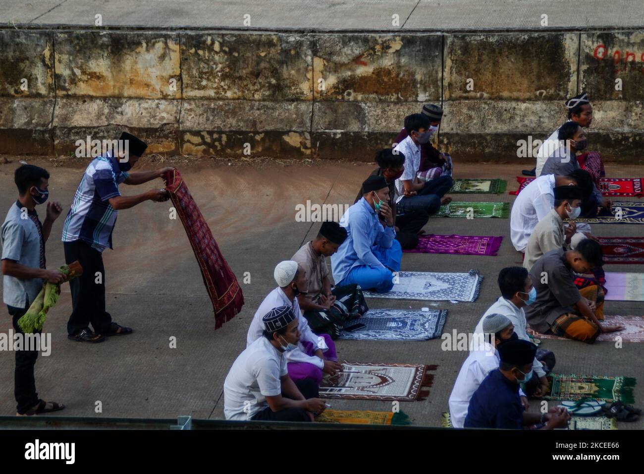
{"label": "brown and white prayer mat with dark reddish-brown fringe", "polygon": [[424,400],[438,366],[342,362],[342,370],[320,384],[323,399]]}

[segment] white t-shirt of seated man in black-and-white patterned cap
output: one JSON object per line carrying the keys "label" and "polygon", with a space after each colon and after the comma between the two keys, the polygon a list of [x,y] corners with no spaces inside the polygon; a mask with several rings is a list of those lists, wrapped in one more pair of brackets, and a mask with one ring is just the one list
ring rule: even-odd
{"label": "white t-shirt of seated man in black-and-white patterned cap", "polygon": [[250,420],[269,404],[266,397],[281,394],[280,377],[287,360],[265,337],[245,348],[223,382],[223,414],[227,420]]}

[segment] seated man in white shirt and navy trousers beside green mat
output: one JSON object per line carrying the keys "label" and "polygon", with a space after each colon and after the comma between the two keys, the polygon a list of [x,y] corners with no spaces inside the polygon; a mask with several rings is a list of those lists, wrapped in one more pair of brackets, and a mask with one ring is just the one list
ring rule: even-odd
{"label": "seated man in white shirt and navy trousers beside green mat", "polygon": [[451,197],[445,197],[453,184],[451,176],[440,176],[422,182],[417,173],[421,164],[421,146],[428,143],[431,137],[430,119],[423,114],[408,115],[404,126],[409,136],[397,144],[394,153],[405,156],[404,171],[395,181],[395,202],[398,213],[422,210],[429,214],[438,212],[440,204],[448,204]]}

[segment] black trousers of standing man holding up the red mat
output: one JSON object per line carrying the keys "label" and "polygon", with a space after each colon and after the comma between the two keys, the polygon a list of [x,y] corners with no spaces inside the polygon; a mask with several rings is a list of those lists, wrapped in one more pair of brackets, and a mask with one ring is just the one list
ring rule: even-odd
{"label": "black trousers of standing man holding up the red mat", "polygon": [[[105,267],[101,253],[83,241],[63,242],[65,261],[79,261],[82,275],[70,281],[71,316],[67,322],[70,336],[91,326],[95,333],[109,334],[112,317],[105,310]],[[97,283],[96,273],[100,272]]]}

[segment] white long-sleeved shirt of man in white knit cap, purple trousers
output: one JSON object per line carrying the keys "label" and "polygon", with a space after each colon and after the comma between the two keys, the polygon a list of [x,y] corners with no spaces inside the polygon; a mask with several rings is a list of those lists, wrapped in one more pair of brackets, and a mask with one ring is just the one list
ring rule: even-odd
{"label": "white long-sleeved shirt of man in white knit cap, purple trousers", "polygon": [[284,293],[279,286],[264,298],[260,307],[255,311],[255,315],[252,317],[251,327],[249,327],[248,334],[246,336],[246,347],[250,346],[257,339],[260,339],[260,337],[263,337],[261,333],[264,330],[264,323],[261,319],[267,315],[270,310],[278,308],[279,306],[290,306],[293,308],[295,317],[298,319],[299,332],[302,333],[298,349],[288,352],[286,356],[287,360],[289,362],[307,362],[308,364],[313,364],[320,369],[324,368],[324,360],[320,359],[316,355],[307,355],[303,351],[303,346],[301,344],[302,341],[311,342],[315,350],[321,349],[324,352],[328,350],[327,344],[324,342],[324,338],[318,337],[313,331],[311,331],[311,328],[308,326],[307,319],[299,309],[298,299],[295,298],[293,301],[290,301],[289,297],[287,297],[286,293]]}

